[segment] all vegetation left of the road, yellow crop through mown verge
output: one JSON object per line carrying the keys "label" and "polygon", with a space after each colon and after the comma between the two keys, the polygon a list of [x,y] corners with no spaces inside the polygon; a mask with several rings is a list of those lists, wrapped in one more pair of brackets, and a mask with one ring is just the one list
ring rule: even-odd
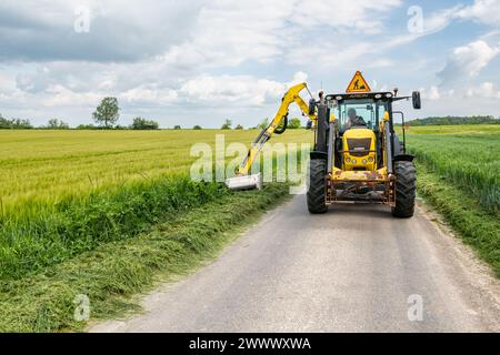
{"label": "all vegetation left of the road, yellow crop through mown verge", "polygon": [[[218,133],[1,131],[0,331],[81,329],[80,294],[91,320],[134,308],[131,295],[216,255],[289,195],[283,184],[237,193],[192,182],[191,145],[213,146]],[[226,143],[256,135],[231,131]]]}

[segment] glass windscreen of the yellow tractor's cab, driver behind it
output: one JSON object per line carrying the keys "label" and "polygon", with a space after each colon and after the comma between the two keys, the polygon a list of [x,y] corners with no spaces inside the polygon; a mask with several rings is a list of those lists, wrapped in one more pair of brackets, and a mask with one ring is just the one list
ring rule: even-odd
{"label": "glass windscreen of the yellow tractor's cab, driver behind it", "polygon": [[387,101],[373,99],[342,100],[338,102],[340,130],[352,126],[366,126],[377,131],[383,112],[388,110]]}

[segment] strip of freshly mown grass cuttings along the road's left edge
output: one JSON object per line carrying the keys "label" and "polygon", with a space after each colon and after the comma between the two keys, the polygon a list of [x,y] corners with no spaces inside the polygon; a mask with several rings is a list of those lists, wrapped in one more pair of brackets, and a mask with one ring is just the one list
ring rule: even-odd
{"label": "strip of freshly mown grass cuttings along the road's left edge", "polygon": [[22,280],[0,281],[0,332],[81,331],[87,323],[73,317],[78,294],[89,297],[91,320],[137,310],[131,295],[192,271],[288,196],[286,184],[227,192],[148,233],[99,244]]}

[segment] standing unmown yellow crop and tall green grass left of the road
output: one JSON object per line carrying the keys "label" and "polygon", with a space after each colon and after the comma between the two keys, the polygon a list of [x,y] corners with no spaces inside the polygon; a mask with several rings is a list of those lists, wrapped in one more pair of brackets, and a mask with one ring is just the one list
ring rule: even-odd
{"label": "standing unmown yellow crop and tall green grass left of the road", "polygon": [[[257,131],[0,131],[0,280],[39,273],[221,199],[228,191],[220,184],[188,176],[191,145],[213,146],[221,133],[227,143],[249,143]],[[311,139],[303,130],[287,135]]]}

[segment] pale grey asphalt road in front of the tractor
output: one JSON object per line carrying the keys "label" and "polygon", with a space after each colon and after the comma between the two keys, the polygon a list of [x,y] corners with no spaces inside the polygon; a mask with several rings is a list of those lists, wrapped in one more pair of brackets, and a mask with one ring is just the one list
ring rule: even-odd
{"label": "pale grey asphalt road in front of the tractor", "polygon": [[143,314],[92,332],[500,332],[500,283],[419,207],[270,212],[193,275],[146,296]]}

